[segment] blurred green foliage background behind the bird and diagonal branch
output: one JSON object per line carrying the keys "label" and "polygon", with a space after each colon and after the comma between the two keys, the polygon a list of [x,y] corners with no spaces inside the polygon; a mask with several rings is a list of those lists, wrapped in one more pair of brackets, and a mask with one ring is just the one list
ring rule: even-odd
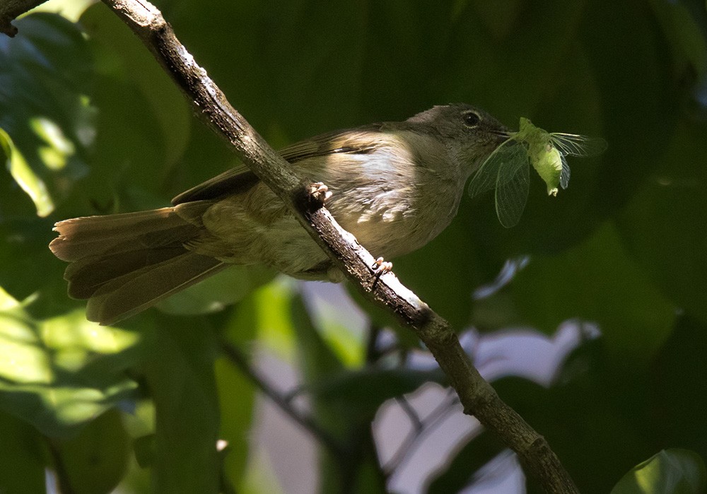
{"label": "blurred green foliage background behind the bird and diagonal branch", "polygon": [[[606,139],[555,198],[532,174],[515,228],[467,197],[395,273],[581,491],[668,448],[681,492],[704,488],[703,2],[155,3],[275,148],[448,102]],[[166,206],[238,161],[107,7],[39,10],[0,37],[0,492],[537,491],[346,284],[235,267],[86,322],[52,225]]]}

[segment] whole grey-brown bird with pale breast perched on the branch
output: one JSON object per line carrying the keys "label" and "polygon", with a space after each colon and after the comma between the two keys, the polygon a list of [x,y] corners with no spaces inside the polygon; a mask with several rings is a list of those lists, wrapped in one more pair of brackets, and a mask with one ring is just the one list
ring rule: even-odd
{"label": "whole grey-brown bird with pale breast perched on the branch", "polygon": [[[438,105],[402,122],[328,132],[279,151],[326,185],[326,206],[375,256],[426,245],[452,221],[472,173],[508,129],[471,105]],[[305,280],[344,275],[245,165],[179,194],[171,206],[59,221],[49,244],[70,264],[86,318],[116,324],[228,268],[264,264]]]}

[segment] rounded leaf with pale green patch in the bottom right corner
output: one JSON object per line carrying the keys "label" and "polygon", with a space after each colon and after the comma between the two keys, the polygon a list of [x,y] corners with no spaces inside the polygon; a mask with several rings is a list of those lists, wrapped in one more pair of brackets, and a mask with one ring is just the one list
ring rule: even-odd
{"label": "rounded leaf with pale green patch in the bottom right corner", "polygon": [[707,488],[707,471],[699,454],[663,449],[636,465],[612,494],[699,494]]}

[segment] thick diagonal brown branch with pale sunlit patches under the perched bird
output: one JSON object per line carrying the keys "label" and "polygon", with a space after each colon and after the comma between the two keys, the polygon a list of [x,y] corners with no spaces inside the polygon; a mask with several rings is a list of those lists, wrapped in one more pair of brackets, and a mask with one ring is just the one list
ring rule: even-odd
{"label": "thick diagonal brown branch with pale sunlit patches under the perched bird", "polygon": [[[416,332],[449,377],[464,413],[476,416],[484,427],[501,437],[518,454],[527,473],[537,478],[547,492],[578,492],[544,437],[506,405],[479,375],[448,322],[404,287],[394,274],[383,274],[376,281],[370,268],[373,256],[353,235],[341,229],[322,202],[310,194],[308,183],[297,177],[288,163],[231,107],[206,71],[177,40],[160,11],[145,0],[103,0],[103,3],[144,42],[192,102],[197,114],[285,202],[349,281],[366,298],[395,313]],[[8,9],[0,6],[0,22],[4,20],[9,26]]]}

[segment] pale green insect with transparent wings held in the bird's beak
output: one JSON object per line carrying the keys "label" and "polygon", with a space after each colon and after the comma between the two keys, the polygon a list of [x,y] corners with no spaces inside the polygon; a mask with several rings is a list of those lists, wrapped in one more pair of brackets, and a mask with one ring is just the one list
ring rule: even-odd
{"label": "pale green insect with transparent wings held in the bird's beak", "polygon": [[496,189],[498,220],[506,228],[513,227],[518,224],[527,202],[529,164],[544,180],[547,194],[556,196],[558,186],[566,189],[570,182],[566,155],[594,156],[606,148],[604,139],[550,133],[521,117],[518,132],[509,132],[508,139],[481,164],[469,184],[469,194],[474,197]]}

